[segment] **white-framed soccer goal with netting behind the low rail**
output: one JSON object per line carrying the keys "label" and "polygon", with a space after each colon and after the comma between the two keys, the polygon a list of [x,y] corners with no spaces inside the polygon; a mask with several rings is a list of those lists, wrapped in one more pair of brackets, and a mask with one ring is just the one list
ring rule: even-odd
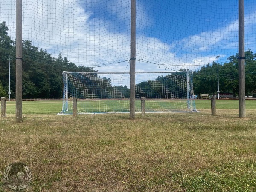
{"label": "white-framed soccer goal with netting behind the low rail", "polygon": [[[191,71],[136,72],[135,111],[198,112],[195,107]],[[58,114],[73,114],[72,98],[77,98],[77,113],[128,113],[130,73],[63,72],[63,106]]]}

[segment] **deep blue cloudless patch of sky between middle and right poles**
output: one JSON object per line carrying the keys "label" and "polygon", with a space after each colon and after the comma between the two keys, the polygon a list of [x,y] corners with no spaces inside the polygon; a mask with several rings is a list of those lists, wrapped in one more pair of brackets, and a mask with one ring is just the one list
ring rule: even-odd
{"label": "deep blue cloudless patch of sky between middle and right poles", "polygon": [[[140,2],[140,1],[139,1]],[[154,3],[153,0],[143,1],[148,6],[150,17],[154,20],[151,30],[164,36],[170,34],[172,40],[180,40],[189,35],[214,30],[221,23],[232,22],[237,15],[237,2],[225,0],[225,3],[212,0],[162,0]],[[157,28],[167,26],[167,29]]]}

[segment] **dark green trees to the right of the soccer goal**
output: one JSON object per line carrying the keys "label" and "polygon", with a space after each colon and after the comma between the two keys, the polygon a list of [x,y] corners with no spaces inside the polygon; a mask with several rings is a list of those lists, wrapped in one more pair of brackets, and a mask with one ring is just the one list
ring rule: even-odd
{"label": "dark green trees to the right of the soccer goal", "polygon": [[[197,95],[216,94],[219,76],[219,91],[232,93],[235,98],[239,90],[238,57],[238,54],[232,55],[223,64],[212,62],[195,70],[193,72],[194,93]],[[256,91],[256,54],[251,49],[245,51],[245,91],[247,96],[251,96],[252,92]]]}

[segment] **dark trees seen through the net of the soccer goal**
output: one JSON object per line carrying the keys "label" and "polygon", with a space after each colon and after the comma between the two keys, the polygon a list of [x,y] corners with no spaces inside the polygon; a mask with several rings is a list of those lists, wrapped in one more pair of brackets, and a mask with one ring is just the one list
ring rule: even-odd
{"label": "dark trees seen through the net of the soccer goal", "polygon": [[[172,72],[161,75],[155,79],[142,81],[135,86],[135,98],[140,99],[178,99],[191,95],[192,77],[191,71]],[[64,74],[65,76],[65,74]],[[187,83],[189,77],[189,83]],[[130,89],[127,85],[115,85],[114,78],[100,77],[97,73],[67,73],[65,90],[69,97],[81,99],[123,99],[130,97]],[[113,83],[113,84],[112,84]],[[189,91],[187,92],[187,87]]]}

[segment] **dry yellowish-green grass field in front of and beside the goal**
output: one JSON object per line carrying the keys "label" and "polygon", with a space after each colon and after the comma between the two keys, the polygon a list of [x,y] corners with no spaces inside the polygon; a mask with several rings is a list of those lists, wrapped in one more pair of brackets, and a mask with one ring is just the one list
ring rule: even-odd
{"label": "dry yellowish-green grass field in front of and beside the goal", "polygon": [[[256,100],[197,100],[200,113],[56,115],[58,101],[15,103],[0,120],[0,177],[21,161],[28,192],[256,191]],[[0,191],[4,191],[0,183]],[[8,190],[6,190],[8,191]]]}

